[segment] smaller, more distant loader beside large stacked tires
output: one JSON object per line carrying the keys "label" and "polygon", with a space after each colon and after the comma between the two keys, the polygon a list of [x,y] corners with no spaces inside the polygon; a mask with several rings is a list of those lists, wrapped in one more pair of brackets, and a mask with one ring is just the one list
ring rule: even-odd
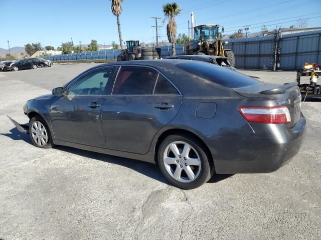
{"label": "smaller, more distant loader beside large stacked tires", "polygon": [[121,53],[117,56],[117,61],[130,61],[140,59],[159,59],[161,56],[161,48],[142,47],[138,40],[126,41],[125,49],[121,49]]}

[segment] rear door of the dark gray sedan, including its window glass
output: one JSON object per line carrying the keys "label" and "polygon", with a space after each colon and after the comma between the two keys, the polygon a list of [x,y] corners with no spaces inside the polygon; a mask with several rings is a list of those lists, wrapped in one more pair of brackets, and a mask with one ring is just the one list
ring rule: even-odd
{"label": "rear door of the dark gray sedan, including its window glass", "polygon": [[178,113],[182,97],[154,68],[121,66],[102,107],[107,148],[147,153],[156,132]]}

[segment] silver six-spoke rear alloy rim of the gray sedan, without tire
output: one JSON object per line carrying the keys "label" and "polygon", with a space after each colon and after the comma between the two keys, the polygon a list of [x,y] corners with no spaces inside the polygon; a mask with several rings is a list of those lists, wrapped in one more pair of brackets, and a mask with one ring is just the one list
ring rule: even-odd
{"label": "silver six-spoke rear alloy rim of the gray sedan, without tire", "polygon": [[181,182],[195,180],[201,171],[201,159],[191,144],[174,141],[164,151],[163,161],[168,173]]}

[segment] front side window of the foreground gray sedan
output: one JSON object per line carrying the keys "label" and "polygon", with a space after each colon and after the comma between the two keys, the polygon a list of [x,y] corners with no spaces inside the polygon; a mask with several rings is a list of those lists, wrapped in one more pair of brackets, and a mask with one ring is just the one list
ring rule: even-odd
{"label": "front side window of the foreground gray sedan", "polygon": [[103,67],[82,76],[73,84],[67,95],[103,95],[116,67]]}

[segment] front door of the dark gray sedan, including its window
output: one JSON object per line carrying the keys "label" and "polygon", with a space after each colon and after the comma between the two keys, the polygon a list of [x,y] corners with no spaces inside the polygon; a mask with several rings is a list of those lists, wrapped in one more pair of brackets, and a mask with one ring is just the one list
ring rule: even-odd
{"label": "front door of the dark gray sedan, including its window", "polygon": [[57,140],[105,147],[101,109],[116,67],[101,67],[80,76],[55,97],[50,119]]}

